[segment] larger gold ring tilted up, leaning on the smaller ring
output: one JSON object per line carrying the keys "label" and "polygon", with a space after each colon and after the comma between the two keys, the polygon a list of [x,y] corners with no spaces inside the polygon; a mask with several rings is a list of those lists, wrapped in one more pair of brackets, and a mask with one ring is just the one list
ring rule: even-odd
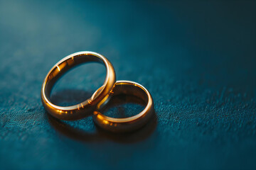
{"label": "larger gold ring tilted up, leaning on the smaller ring", "polygon": [[[55,81],[60,79],[60,77],[65,74],[71,68],[82,64],[85,62],[99,62],[104,64],[106,67],[107,75],[104,81],[103,86],[100,90],[97,90],[97,95],[93,95],[91,98],[88,98],[86,101],[75,105],[75,106],[55,106],[50,102],[50,92],[53,89]],[[55,118],[62,120],[77,120],[80,118],[85,118],[87,115],[90,115],[95,110],[96,106],[100,101],[102,101],[105,96],[110,94],[115,83],[115,72],[114,67],[103,55],[97,54],[96,52],[75,52],[72,55],[60,60],[55,66],[50,69],[46,79],[43,81],[41,89],[41,100],[46,111],[53,115]]]}

